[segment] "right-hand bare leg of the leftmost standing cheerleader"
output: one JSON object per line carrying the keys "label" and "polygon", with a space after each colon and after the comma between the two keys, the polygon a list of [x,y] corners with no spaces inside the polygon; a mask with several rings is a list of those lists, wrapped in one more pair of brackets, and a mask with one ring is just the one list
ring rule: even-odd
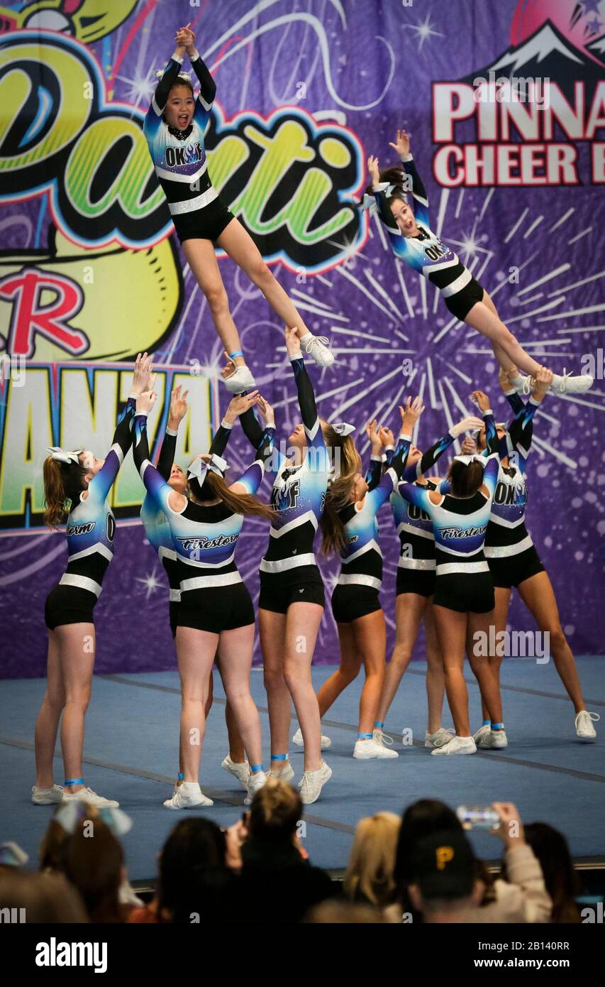
{"label": "right-hand bare leg of the leftmost standing cheerleader", "polygon": [[[64,624],[55,628],[65,707],[61,721],[61,750],[65,778],[82,778],[84,718],[91,699],[95,666],[95,625]],[[79,792],[83,785],[70,785],[66,791]]]}

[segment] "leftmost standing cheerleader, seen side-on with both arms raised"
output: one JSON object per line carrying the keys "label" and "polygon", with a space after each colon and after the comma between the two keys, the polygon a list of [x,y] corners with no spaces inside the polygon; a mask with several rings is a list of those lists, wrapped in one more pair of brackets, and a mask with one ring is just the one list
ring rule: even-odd
{"label": "leftmost standing cheerleader, seen side-on with both arms raised", "polygon": [[[111,448],[104,459],[90,449],[48,449],[44,460],[44,522],[66,524],[67,569],[50,591],[44,607],[48,630],[47,684],[35,721],[34,805],[85,801],[117,806],[85,785],[82,772],[84,721],[95,666],[94,609],[104,574],[113,558],[115,519],[107,496],[132,442],[135,401],[149,386],[151,358],[139,353],[128,402],[117,419]],[[61,720],[65,781],[53,782],[53,758]]]}

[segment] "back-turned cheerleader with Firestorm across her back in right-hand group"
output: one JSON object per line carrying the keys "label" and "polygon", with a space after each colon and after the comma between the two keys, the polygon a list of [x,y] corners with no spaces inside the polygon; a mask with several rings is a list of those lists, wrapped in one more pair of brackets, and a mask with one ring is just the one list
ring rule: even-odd
{"label": "back-turned cheerleader with Firestorm across her back in right-hand group", "polygon": [[[489,640],[494,620],[494,583],[483,545],[500,458],[496,425],[487,395],[472,395],[486,426],[490,455],[455,456],[447,480],[439,490],[423,490],[402,482],[404,500],[425,510],[433,521],[436,542],[434,615],[437,642],[443,658],[445,691],[454,721],[455,735],[432,755],[474,754],[477,750],[468,721],[468,693],[464,682],[464,649],[477,633]],[[485,698],[492,728],[504,730],[502,701],[496,676],[485,658],[471,658],[471,667]]]}

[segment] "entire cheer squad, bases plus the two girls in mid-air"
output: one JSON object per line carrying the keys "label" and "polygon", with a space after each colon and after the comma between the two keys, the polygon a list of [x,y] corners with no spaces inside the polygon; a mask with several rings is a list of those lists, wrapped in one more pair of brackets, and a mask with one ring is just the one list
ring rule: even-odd
{"label": "entire cheer squad, bases plus the two girls in mid-air", "polygon": [[[391,147],[401,165],[380,173],[378,162],[370,157],[371,183],[363,205],[375,209],[395,255],[437,286],[456,318],[490,340],[512,417],[509,424],[496,423],[490,399],[475,391],[471,398],[477,415],[454,424],[422,452],[412,435],[424,408],[420,398],[409,397],[399,409],[401,422],[395,433],[387,423],[366,424],[370,463],[365,471],[355,427],[328,422],[317,412],[304,354],[321,367],[331,366],[328,341],[308,332],[212,186],[204,130],[216,86],[190,26],[179,29],[175,40],[145,133],[187,264],[225,346],[223,377],[234,397],[210,450],[196,456],[184,471],[174,458],[179,423],[188,414],[187,394],[175,388],[154,466],[147,433],[147,417],[156,401],[153,365],[147,353],[140,354],[106,457],[98,459],[89,449],[48,450],[43,464],[44,517],[51,527],[65,525],[68,562],[45,604],[47,688],[35,724],[34,803],[117,805],[86,785],[82,752],[95,663],[94,608],[113,557],[115,523],[107,497],[131,446],[145,487],[141,518],[168,576],[169,623],[181,683],[179,770],[164,803],[168,808],[212,804],[199,778],[215,663],[227,696],[230,751],[223,767],[245,790],[246,802],[269,775],[284,781],[295,777],[289,759],[292,704],[300,726],[292,742],[304,751],[302,801],[308,804],[319,797],[332,774],[322,756],[331,741],[321,733],[321,717],[362,666],[365,683],[353,756],[396,758],[383,726],[421,622],[426,629],[426,746],[437,756],[472,754],[477,747],[504,748],[502,657],[484,654],[475,642],[480,633],[483,640],[499,640],[513,587],[540,631],[548,632],[552,657],[574,707],[576,735],[593,739],[593,721],[599,718],[585,710],[553,588],[524,524],[525,463],[536,409],[549,391],[583,391],[592,378],[553,374],[509,333],[489,295],[430,229],[427,194],[410,154],[409,136],[398,131]],[[189,76],[181,72],[185,53],[199,81],[197,97]],[[286,350],[302,418],[288,436],[288,457],[281,451],[284,443],[275,441],[273,409],[255,389],[245,363],[216,260],[217,246],[248,274],[286,325]],[[528,400],[521,394],[529,395]],[[250,462],[238,478],[227,479],[224,453],[237,418],[250,442]],[[462,436],[461,454],[453,457],[440,479],[435,469],[439,457]],[[258,496],[265,473],[274,475],[269,503]],[[388,666],[376,520],[387,500],[400,540],[396,639]],[[269,529],[257,607],[271,734],[268,772],[249,688],[255,615],[235,563],[236,543],[248,516],[266,520]],[[322,552],[339,555],[341,562],[331,599],[341,657],[338,670],[315,694],[310,666],[325,606],[314,554],[318,528]],[[491,628],[496,635],[490,635]],[[463,677],[465,653],[483,708],[483,723],[474,735]],[[445,695],[453,730],[441,723]],[[54,784],[52,770],[59,722],[62,786]]]}

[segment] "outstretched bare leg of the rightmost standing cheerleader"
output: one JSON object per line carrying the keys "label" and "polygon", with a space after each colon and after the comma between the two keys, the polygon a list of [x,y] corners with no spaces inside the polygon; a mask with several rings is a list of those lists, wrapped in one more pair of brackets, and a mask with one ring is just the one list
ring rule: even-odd
{"label": "outstretched bare leg of the rightmost standing cheerleader", "polygon": [[518,587],[519,596],[543,632],[549,634],[549,646],[559,677],[566,687],[576,713],[585,710],[577,668],[571,647],[563,633],[559,607],[548,572],[537,572]]}

